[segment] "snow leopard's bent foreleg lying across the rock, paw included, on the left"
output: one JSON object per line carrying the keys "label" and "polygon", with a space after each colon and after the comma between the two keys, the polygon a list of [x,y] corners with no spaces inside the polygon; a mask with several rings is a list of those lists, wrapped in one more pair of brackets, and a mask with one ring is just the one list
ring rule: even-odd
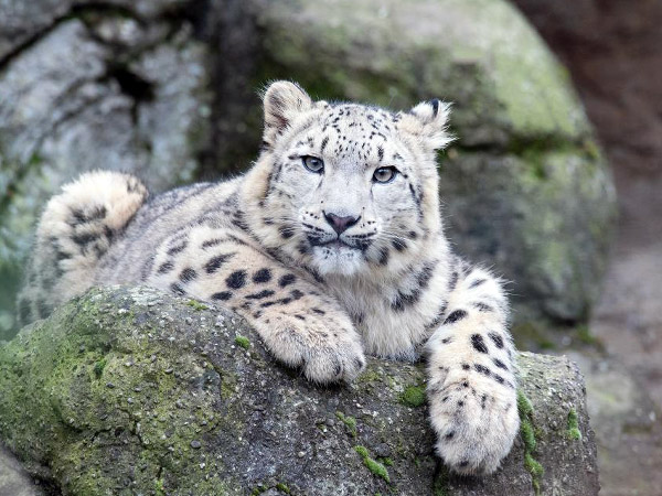
{"label": "snow leopard's bent foreleg lying across the rock, paw included, on the left", "polygon": [[312,381],[351,380],[365,366],[340,304],[234,229],[200,225],[173,234],[151,263],[148,283],[234,310],[278,360]]}

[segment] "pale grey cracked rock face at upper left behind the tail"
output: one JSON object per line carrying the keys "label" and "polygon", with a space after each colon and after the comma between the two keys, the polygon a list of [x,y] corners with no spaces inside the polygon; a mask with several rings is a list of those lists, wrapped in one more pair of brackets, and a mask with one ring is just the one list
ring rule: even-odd
{"label": "pale grey cracked rock face at upper left behind the tail", "polygon": [[0,28],[0,337],[36,217],[61,184],[110,169],[167,190],[193,180],[209,145],[207,50],[191,26],[146,21],[150,2],[66,3],[0,3],[11,28]]}

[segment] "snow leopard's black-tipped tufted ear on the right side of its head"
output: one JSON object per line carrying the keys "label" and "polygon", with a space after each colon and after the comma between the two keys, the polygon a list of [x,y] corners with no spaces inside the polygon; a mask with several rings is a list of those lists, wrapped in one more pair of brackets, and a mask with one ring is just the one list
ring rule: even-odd
{"label": "snow leopard's black-tipped tufted ear on the right side of its head", "polygon": [[421,101],[402,116],[401,129],[417,136],[434,150],[446,148],[455,139],[448,132],[450,104],[437,99]]}

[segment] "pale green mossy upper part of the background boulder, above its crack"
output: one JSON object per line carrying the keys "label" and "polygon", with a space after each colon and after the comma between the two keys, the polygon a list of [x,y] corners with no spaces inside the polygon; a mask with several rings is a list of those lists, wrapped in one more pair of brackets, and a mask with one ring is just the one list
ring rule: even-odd
{"label": "pale green mossy upper part of the background boulder, above its crack", "polygon": [[467,144],[589,131],[567,73],[505,1],[256,3],[264,69],[316,96],[396,108],[444,97]]}

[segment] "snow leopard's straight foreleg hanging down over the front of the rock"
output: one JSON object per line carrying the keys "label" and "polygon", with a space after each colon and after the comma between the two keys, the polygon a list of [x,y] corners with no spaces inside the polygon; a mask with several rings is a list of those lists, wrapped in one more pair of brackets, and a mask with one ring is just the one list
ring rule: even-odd
{"label": "snow leopard's straight foreleg hanging down over the front of the rock", "polygon": [[500,281],[457,259],[427,352],[437,453],[458,473],[494,472],[520,427],[508,311]]}

